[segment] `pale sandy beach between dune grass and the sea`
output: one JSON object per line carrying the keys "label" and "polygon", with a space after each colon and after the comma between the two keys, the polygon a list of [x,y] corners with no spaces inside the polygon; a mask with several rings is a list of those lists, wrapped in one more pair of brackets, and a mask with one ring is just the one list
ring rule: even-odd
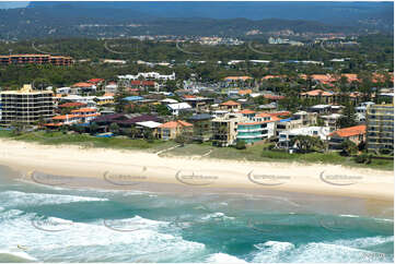
{"label": "pale sandy beach between dune grass and the sea", "polygon": [[0,165],[20,170],[27,180],[49,185],[67,183],[66,179],[78,179],[74,177],[93,177],[114,189],[150,182],[196,189],[260,189],[387,202],[394,199],[393,171],[338,165],[159,157],[139,151],[48,146],[10,140],[0,140]]}

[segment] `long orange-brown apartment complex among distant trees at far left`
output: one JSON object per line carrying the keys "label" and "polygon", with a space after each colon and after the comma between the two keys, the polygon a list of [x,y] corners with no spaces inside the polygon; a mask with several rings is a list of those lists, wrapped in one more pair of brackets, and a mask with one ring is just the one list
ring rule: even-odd
{"label": "long orange-brown apartment complex among distant trees at far left", "polygon": [[71,65],[74,63],[71,57],[50,55],[9,55],[0,56],[0,65],[10,64],[53,64]]}

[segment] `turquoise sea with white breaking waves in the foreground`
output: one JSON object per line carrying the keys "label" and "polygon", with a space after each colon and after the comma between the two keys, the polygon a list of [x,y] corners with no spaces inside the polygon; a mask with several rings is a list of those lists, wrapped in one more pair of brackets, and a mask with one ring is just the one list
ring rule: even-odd
{"label": "turquoise sea with white breaking waves in the foreground", "polygon": [[70,190],[8,173],[0,262],[394,261],[393,219],[358,215],[356,201]]}

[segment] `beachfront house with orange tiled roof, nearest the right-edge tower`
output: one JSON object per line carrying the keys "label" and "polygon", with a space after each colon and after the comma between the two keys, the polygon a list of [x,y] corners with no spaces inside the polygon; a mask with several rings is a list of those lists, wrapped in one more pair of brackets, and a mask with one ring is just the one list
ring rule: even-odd
{"label": "beachfront house with orange tiled roof, nearest the right-edge tower", "polygon": [[367,140],[367,125],[360,124],[350,128],[339,129],[332,132],[329,135],[329,149],[341,149],[341,143],[351,141],[359,145]]}

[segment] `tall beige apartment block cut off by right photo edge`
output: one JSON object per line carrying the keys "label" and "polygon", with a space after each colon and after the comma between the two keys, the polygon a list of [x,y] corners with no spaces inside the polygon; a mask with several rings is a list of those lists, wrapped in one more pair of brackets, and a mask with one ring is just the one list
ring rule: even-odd
{"label": "tall beige apartment block cut off by right photo edge", "polygon": [[394,105],[372,105],[367,108],[367,148],[370,152],[394,149]]}

